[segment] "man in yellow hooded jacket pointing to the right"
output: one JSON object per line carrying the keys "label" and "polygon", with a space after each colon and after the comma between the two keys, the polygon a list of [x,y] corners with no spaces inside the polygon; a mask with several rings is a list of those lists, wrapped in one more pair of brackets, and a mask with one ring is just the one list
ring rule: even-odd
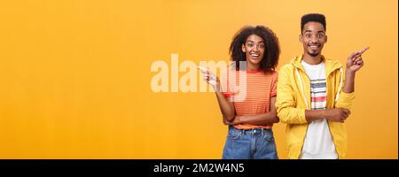
{"label": "man in yellow hooded jacket pointing to the right", "polygon": [[287,124],[288,158],[336,159],[347,152],[343,122],[354,100],[355,73],[364,65],[362,53],[369,48],[350,54],[343,68],[321,54],[325,31],[324,15],[302,16],[303,54],[279,72],[276,108]]}

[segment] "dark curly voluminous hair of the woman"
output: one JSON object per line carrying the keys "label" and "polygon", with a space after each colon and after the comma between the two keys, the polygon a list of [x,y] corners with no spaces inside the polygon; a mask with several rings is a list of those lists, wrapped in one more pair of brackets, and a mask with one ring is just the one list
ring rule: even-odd
{"label": "dark curly voluminous hair of the woman", "polygon": [[246,43],[246,39],[250,35],[258,35],[265,44],[264,55],[261,61],[260,68],[264,73],[274,71],[278,65],[278,57],[280,55],[280,47],[278,44],[278,37],[269,27],[242,27],[230,45],[231,61],[235,61],[236,70],[239,70],[239,61],[246,61],[246,53],[242,51],[241,46]]}

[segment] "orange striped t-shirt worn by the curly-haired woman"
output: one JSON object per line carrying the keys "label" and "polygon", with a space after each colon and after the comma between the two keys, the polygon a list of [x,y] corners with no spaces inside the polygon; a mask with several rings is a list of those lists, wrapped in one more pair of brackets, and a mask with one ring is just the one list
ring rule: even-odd
{"label": "orange striped t-shirt worn by the curly-haired woman", "polygon": [[[232,73],[231,73],[232,72]],[[227,78],[224,87],[227,91],[224,96],[234,101],[234,108],[237,115],[254,115],[270,111],[270,98],[277,95],[278,73],[263,73],[262,71],[229,71],[230,74],[222,73],[221,78]],[[236,73],[235,83],[234,77]],[[246,80],[240,80],[239,74],[244,74]],[[243,75],[241,75],[243,79]],[[241,81],[241,82],[239,82]],[[245,84],[245,83],[246,84]],[[250,129],[254,127],[271,128],[273,124],[263,126],[239,124],[234,127],[239,129]]]}

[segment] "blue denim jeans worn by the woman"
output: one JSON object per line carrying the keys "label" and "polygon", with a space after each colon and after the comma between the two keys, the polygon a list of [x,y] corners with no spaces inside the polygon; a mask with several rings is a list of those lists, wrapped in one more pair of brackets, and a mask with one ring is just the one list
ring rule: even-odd
{"label": "blue denim jeans worn by the woman", "polygon": [[273,131],[265,128],[240,130],[229,127],[223,159],[278,159]]}

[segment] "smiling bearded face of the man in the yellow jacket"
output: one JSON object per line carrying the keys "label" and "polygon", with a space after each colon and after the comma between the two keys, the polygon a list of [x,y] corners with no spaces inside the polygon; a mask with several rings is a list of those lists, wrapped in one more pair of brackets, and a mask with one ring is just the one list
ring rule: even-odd
{"label": "smiling bearded face of the man in the yellow jacket", "polygon": [[327,42],[325,27],[321,23],[309,21],[303,26],[300,42],[303,43],[303,51],[309,56],[317,57],[321,55],[321,50]]}

